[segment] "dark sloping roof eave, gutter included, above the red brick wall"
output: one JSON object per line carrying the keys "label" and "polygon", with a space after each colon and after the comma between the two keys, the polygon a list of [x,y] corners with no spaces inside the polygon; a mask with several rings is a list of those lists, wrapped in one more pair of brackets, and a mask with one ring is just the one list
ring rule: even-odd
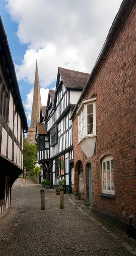
{"label": "dark sloping roof eave, gutter included, above the red brick wall", "polygon": [[[115,38],[118,36],[119,31],[120,31],[119,28],[121,29],[122,26],[124,26],[125,20],[127,19],[128,15],[135,3],[136,3],[135,0],[132,0],[132,1],[123,0],[122,1],[119,11],[118,11],[116,17],[114,18],[114,21],[111,25],[111,28],[108,32],[106,39],[105,39],[103,47],[100,51],[100,54],[98,55],[97,61],[94,64],[94,67],[89,76],[89,79],[86,82],[86,85],[78,99],[77,104],[75,105],[74,110],[72,111],[72,115],[71,115],[72,120],[74,119],[74,116],[76,114],[76,111],[78,109],[80,102],[85,98],[86,92],[90,88],[90,84],[93,84],[93,82],[95,81],[95,78],[96,78],[97,74],[99,73],[99,70],[102,67],[103,63],[105,62],[105,60],[110,52],[111,47],[114,46]],[[122,19],[123,19],[123,21],[122,21]]]}

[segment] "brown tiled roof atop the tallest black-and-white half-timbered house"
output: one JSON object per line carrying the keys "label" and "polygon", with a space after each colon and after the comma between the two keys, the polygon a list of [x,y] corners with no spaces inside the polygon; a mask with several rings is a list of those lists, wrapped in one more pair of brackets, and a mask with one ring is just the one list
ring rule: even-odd
{"label": "brown tiled roof atop the tallest black-and-white half-timbered house", "polygon": [[84,88],[90,74],[66,68],[58,67],[61,78],[64,81],[65,87],[68,88]]}

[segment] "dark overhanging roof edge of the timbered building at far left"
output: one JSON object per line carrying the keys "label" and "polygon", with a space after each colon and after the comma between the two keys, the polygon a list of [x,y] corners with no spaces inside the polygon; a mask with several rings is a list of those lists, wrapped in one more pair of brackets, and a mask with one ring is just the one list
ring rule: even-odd
{"label": "dark overhanging roof edge of the timbered building at far left", "polygon": [[6,75],[6,79],[10,81],[8,84],[11,84],[11,87],[12,87],[11,93],[13,95],[14,103],[18,108],[18,112],[22,120],[23,128],[24,130],[28,131],[27,119],[26,119],[24,107],[22,105],[22,99],[20,96],[19,85],[17,82],[14,63],[12,60],[11,51],[9,49],[8,40],[7,40],[7,36],[6,36],[6,32],[3,26],[1,16],[0,16],[0,45],[1,45],[2,55],[5,57],[5,61],[6,61],[6,64],[4,61],[3,63],[1,61],[3,67],[5,67],[3,70]]}

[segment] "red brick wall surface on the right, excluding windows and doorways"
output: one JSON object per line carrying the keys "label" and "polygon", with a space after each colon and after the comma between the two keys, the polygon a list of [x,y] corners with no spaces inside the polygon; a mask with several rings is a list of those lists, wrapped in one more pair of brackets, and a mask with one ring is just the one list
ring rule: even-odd
{"label": "red brick wall surface on the right, excluding windows and doorways", "polygon": [[[83,163],[84,196],[87,201],[88,168],[92,165],[93,205],[136,224],[136,10],[119,33],[86,98],[97,94],[96,154],[86,159],[78,145],[78,116],[73,120],[75,191],[76,163]],[[102,198],[101,163],[114,156],[115,199]]]}

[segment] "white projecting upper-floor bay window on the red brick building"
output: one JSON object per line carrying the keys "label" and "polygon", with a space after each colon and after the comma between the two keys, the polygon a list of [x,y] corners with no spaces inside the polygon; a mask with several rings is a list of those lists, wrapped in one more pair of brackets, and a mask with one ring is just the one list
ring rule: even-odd
{"label": "white projecting upper-floor bay window on the red brick building", "polygon": [[88,99],[82,102],[77,114],[78,116],[78,131],[79,142],[84,137],[96,136],[96,111],[95,99]]}

